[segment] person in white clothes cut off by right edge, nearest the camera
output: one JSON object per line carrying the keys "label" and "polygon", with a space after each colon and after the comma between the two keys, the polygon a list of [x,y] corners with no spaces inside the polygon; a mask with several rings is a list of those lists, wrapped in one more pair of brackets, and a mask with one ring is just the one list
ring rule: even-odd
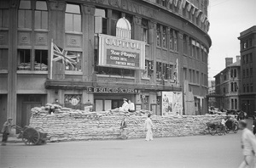
{"label": "person in white clothes cut off by right edge, nearest the camera", "polygon": [[247,129],[247,121],[240,120],[239,128],[241,129],[241,148],[244,160],[241,162],[239,168],[255,167],[255,151],[256,151],[256,137],[249,129]]}

